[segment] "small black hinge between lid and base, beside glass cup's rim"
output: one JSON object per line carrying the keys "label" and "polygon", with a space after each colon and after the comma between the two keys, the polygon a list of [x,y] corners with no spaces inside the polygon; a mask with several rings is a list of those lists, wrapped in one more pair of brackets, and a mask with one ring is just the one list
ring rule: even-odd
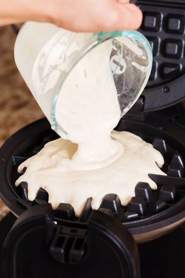
{"label": "small black hinge between lid and base, beside glass cup's rim", "polygon": [[123,119],[137,120],[139,122],[144,122],[145,119],[145,112],[143,111],[144,101],[145,101],[144,96],[140,95],[140,97],[130,108],[130,110],[123,116]]}

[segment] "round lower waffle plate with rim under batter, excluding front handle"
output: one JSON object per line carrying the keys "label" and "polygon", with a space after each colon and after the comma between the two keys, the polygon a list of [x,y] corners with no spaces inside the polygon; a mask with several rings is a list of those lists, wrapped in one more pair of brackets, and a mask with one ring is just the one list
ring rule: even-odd
{"label": "round lower waffle plate with rim under batter, excluding front handle", "polygon": [[[175,114],[176,120],[172,117],[174,111],[178,111],[178,117]],[[116,129],[133,132],[152,143],[164,156],[162,171],[167,176],[150,175],[158,185],[156,191],[151,190],[147,183],[138,183],[135,196],[126,207],[121,206],[117,195],[106,195],[99,211],[113,215],[137,243],[142,243],[169,233],[185,221],[185,128],[180,124],[185,112],[183,104],[179,103],[160,112],[145,113],[142,121],[136,121],[130,115],[121,119]],[[17,167],[20,163],[57,137],[47,119],[43,118],[19,130],[2,146],[0,197],[15,215],[19,216],[35,204],[48,202],[48,193],[44,189],[40,188],[35,200],[31,202],[27,199],[27,183],[23,182],[18,187],[14,183],[19,177]],[[91,199],[88,199],[77,219],[71,205],[60,204],[54,217],[87,222],[91,210]]]}

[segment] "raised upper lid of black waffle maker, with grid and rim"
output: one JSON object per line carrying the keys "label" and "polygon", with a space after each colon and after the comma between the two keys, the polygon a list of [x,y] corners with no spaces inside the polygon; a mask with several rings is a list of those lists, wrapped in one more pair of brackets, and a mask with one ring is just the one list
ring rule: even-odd
{"label": "raised upper lid of black waffle maker, with grid and rim", "polygon": [[185,98],[185,3],[176,1],[137,1],[142,13],[138,29],[149,40],[153,65],[142,95],[144,111],[174,105]]}

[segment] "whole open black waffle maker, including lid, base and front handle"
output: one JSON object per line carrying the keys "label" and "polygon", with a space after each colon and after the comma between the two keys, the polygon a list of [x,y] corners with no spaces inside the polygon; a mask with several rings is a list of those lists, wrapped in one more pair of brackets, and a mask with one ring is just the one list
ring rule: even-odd
{"label": "whole open black waffle maker, including lid, base and front handle", "polygon": [[115,129],[152,143],[167,176],[149,175],[156,191],[139,182],[126,207],[108,194],[97,211],[88,199],[79,218],[70,204],[53,211],[43,188],[31,202],[27,183],[14,183],[20,163],[58,135],[46,118],[22,128],[0,149],[0,197],[19,216],[0,223],[1,245],[15,222],[1,254],[2,278],[185,277],[185,1],[132,2],[143,12],[138,31],[150,41],[153,66]]}

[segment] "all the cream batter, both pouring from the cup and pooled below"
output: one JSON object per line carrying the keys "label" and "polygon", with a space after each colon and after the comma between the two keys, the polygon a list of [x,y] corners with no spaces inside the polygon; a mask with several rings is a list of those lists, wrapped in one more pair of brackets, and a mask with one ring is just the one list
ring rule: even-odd
{"label": "all the cream batter, both pouring from the cup and pooled below", "polygon": [[94,48],[64,82],[56,120],[67,134],[47,143],[18,168],[20,173],[27,167],[15,185],[27,181],[29,200],[42,187],[53,209],[70,203],[79,216],[89,197],[93,209],[108,193],[116,193],[127,205],[138,182],[157,189],[149,173],[166,175],[159,169],[163,157],[151,144],[132,133],[111,133],[121,115],[110,67],[112,48],[112,40]]}

